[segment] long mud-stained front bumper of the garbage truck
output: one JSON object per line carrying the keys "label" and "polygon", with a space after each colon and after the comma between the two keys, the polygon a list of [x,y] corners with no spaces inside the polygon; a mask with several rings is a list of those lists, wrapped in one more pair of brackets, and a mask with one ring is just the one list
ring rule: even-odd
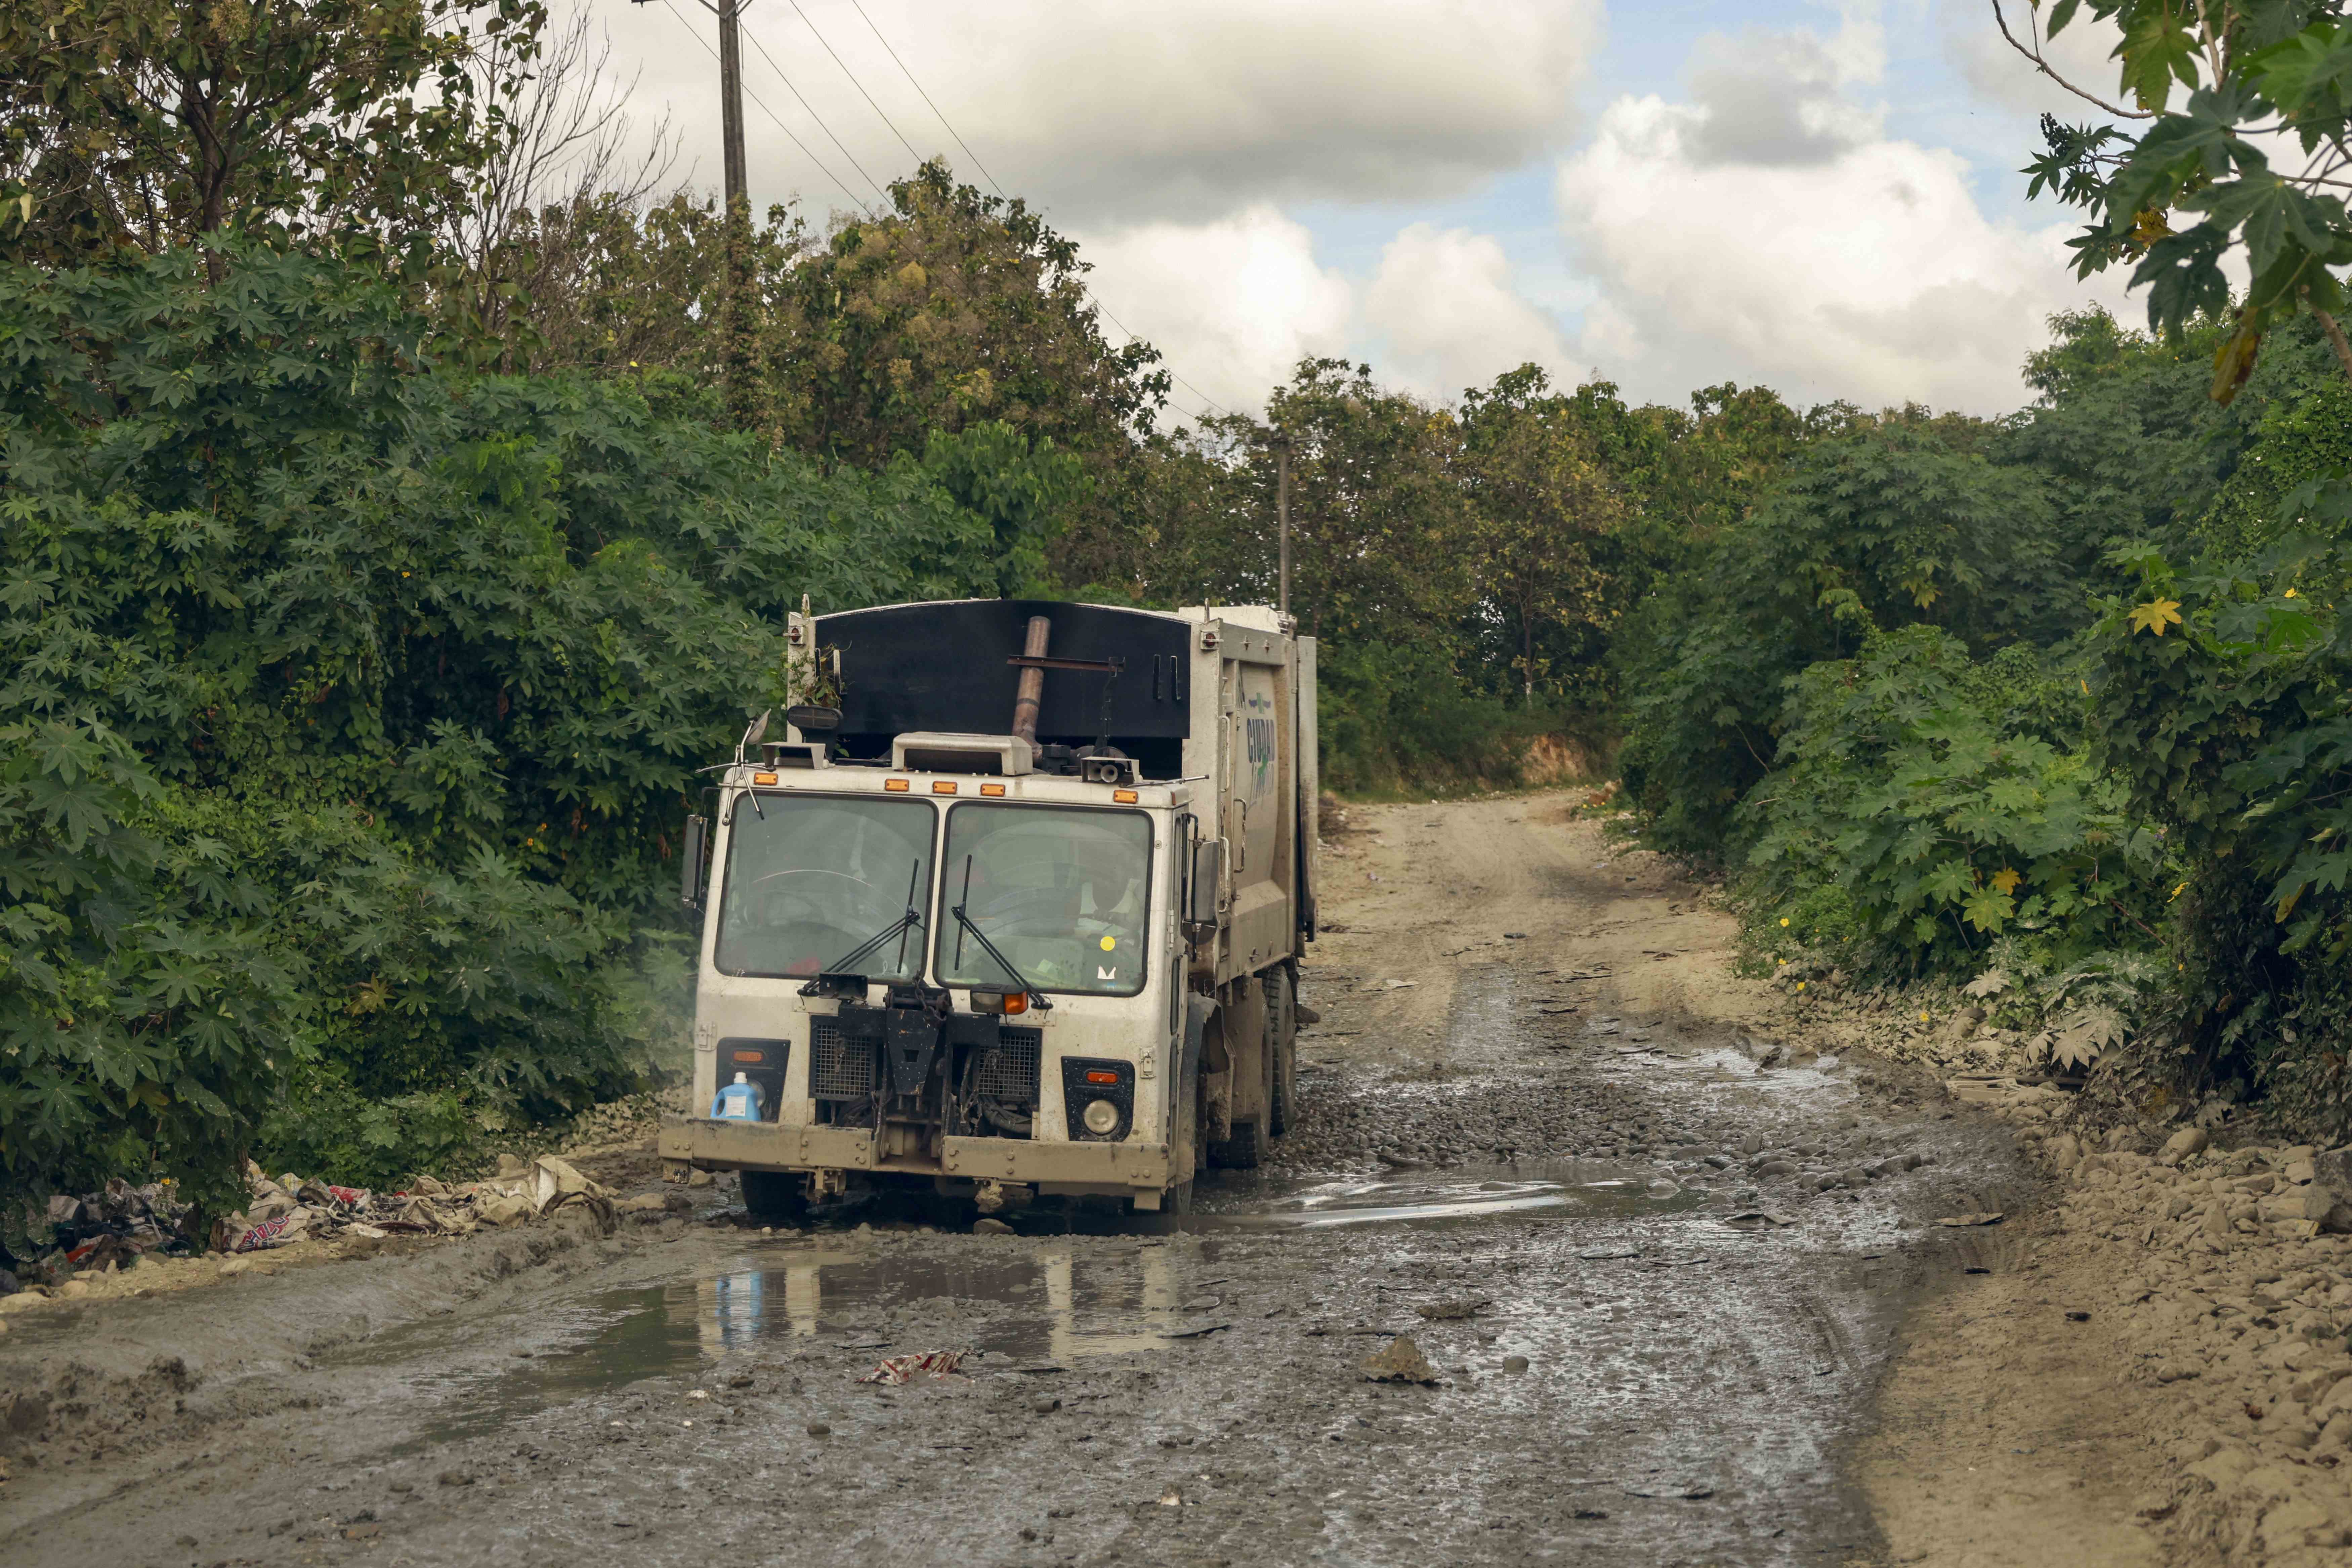
{"label": "long mud-stained front bumper of the garbage truck", "polygon": [[1164,1143],[1044,1143],[1030,1138],[943,1138],[929,1154],[880,1154],[875,1135],[849,1126],[779,1126],[663,1117],[666,1164],[699,1171],[875,1171],[974,1182],[1030,1182],[1054,1194],[1160,1194],[1169,1185]]}

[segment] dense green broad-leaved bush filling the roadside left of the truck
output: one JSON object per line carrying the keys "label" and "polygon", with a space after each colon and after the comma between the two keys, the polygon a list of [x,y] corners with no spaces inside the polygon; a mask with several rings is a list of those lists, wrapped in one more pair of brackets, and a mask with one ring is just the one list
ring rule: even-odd
{"label": "dense green broad-leaved bush filling the roadside left of the truck", "polygon": [[0,1187],[388,1175],[640,1079],[668,835],[783,609],[1035,555],[706,414],[445,374],[329,261],[0,273]]}

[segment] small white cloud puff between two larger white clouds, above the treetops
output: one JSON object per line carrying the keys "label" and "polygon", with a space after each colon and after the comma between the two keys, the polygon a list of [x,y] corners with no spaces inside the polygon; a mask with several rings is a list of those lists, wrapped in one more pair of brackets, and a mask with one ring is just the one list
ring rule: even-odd
{"label": "small white cloud puff between two larger white clouds, above the treetops", "polygon": [[1430,223],[1399,230],[1364,289],[1362,327],[1381,341],[1381,374],[1425,397],[1458,397],[1526,362],[1576,383],[1559,324],[1512,287],[1494,235]]}

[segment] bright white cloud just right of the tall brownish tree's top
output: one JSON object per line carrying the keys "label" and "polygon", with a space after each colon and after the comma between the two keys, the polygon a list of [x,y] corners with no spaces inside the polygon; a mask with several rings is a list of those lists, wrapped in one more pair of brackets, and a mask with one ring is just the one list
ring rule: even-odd
{"label": "bright white cloud just right of the tall brownish tree's top", "polygon": [[[1141,223],[1080,240],[1096,296],[1228,409],[1263,407],[1301,355],[1348,350],[1355,292],[1317,266],[1305,226],[1268,202],[1211,223]],[[1200,409],[1192,388],[1174,390],[1181,409]]]}

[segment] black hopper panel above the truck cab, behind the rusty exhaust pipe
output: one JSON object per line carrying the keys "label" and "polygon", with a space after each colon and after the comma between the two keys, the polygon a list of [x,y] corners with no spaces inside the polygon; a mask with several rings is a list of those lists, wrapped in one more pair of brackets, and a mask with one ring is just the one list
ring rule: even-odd
{"label": "black hopper panel above the truck cab, behind the rusty exhaust pipe", "polygon": [[[1049,646],[1030,644],[1037,618]],[[1049,668],[1065,675],[1028,696],[1037,771],[1089,776],[1089,764],[1131,759],[1145,778],[1176,778],[1192,733],[1192,630],[1143,609],[953,599],[818,616],[816,646],[840,654],[847,757],[889,757],[906,733],[1004,733],[1016,672]]]}

